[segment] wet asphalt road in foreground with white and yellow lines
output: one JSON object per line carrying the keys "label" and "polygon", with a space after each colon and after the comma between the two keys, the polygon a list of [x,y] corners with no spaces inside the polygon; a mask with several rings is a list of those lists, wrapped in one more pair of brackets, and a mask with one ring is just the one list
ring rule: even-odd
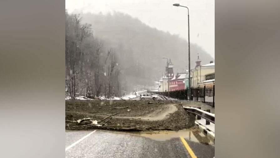
{"label": "wet asphalt road in foreground with white and yellow lines", "polygon": [[[184,145],[184,140],[189,149]],[[65,158],[195,158],[194,156],[215,156],[213,143],[198,131],[66,131]]]}

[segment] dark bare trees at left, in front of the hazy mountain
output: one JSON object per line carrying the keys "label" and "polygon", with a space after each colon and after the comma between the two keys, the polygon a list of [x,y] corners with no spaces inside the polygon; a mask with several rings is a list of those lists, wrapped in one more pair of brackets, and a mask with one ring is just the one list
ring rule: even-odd
{"label": "dark bare trees at left, in front of the hazy mountain", "polygon": [[116,49],[94,37],[91,25],[81,23],[79,14],[65,11],[65,15],[66,96],[120,96],[123,88]]}

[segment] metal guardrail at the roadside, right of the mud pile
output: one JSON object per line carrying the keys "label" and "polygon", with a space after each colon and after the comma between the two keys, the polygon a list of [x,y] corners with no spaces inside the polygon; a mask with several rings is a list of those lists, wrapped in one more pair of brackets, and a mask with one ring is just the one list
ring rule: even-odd
{"label": "metal guardrail at the roadside, right of the mud pile", "polygon": [[187,112],[193,113],[197,115],[197,119],[199,120],[199,116],[203,117],[206,120],[206,125],[207,125],[207,121],[212,122],[213,124],[215,124],[215,114],[211,114],[210,111],[204,111],[201,110],[199,108],[194,108],[194,107],[183,107]]}

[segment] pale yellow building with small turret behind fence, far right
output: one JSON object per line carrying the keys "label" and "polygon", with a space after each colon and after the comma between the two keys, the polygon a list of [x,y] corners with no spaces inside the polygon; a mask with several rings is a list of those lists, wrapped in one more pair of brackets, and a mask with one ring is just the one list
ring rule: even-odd
{"label": "pale yellow building with small turret behind fence, far right", "polygon": [[[204,87],[207,83],[208,85],[212,85],[215,82],[215,78],[213,79],[206,79],[206,76],[209,74],[215,73],[215,63],[213,61],[210,61],[210,64],[206,65],[200,65],[199,58],[198,61],[196,61],[196,67],[191,70],[191,87]],[[209,80],[209,81],[206,81]],[[204,82],[205,81],[205,82]],[[214,81],[214,82],[213,82]]]}

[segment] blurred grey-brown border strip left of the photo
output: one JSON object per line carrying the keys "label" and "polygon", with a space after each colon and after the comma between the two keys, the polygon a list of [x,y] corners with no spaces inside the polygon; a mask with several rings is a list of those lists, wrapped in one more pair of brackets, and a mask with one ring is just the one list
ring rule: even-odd
{"label": "blurred grey-brown border strip left of the photo", "polygon": [[65,1],[0,2],[0,157],[65,157]]}

